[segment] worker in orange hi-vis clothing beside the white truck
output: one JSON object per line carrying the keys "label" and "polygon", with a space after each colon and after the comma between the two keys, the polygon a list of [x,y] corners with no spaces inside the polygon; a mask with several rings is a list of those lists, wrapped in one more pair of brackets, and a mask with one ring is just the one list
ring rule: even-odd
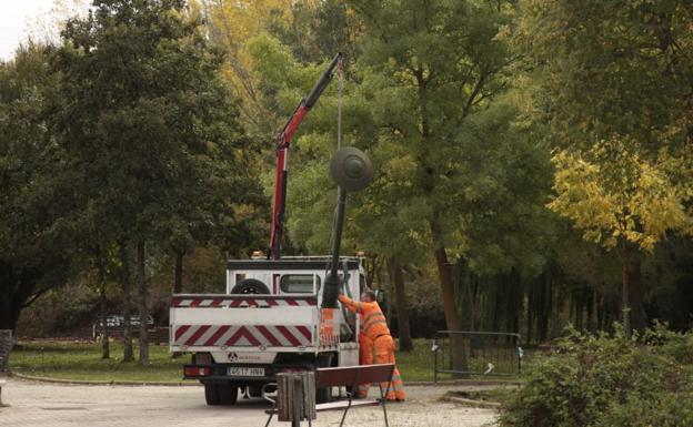
{"label": "worker in orange hi-vis clothing beside the white truck", "polygon": [[[361,319],[361,334],[365,338],[373,343],[375,348],[376,364],[393,364],[394,362],[394,339],[390,335],[390,328],[385,321],[380,306],[375,302],[375,293],[373,291],[365,291],[361,294],[361,302],[355,302],[349,297],[340,294],[339,301],[350,311],[359,314]],[[386,389],[388,383],[382,384],[383,389]],[[398,368],[394,368],[392,374],[392,387],[385,396],[388,400],[404,400],[404,384],[402,384],[402,377]]]}

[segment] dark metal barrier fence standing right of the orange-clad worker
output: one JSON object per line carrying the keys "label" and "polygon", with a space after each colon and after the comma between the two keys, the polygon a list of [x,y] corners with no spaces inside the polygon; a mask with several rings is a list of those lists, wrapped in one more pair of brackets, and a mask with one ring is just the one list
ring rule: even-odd
{"label": "dark metal barrier fence standing right of the orange-clad worker", "polygon": [[[458,366],[453,365],[453,342]],[[522,338],[519,334],[439,331],[435,333],[433,380],[438,374],[462,376],[512,376],[522,369]]]}

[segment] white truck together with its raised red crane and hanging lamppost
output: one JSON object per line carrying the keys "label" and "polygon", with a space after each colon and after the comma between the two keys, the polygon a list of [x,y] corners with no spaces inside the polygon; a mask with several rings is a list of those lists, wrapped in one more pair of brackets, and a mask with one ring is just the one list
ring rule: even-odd
{"label": "white truck together with its raised red crane and hanging lamppost", "polygon": [[[358,301],[365,288],[362,258],[339,256],[346,192],[364,189],[373,176],[364,153],[343,148],[332,159],[339,200],[331,256],[280,256],[291,138],[341,63],[338,53],[278,136],[267,258],[229,261],[225,294],[172,297],[171,350],[192,353],[183,376],[204,384],[209,405],[233,405],[239,388],[259,396],[281,372],[359,364],[359,322],[338,308],[337,296],[341,291]],[[318,390],[317,398],[329,394]]]}

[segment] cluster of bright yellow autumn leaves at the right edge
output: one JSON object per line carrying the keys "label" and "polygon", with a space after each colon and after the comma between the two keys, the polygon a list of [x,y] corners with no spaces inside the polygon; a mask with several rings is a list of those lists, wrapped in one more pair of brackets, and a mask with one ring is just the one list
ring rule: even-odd
{"label": "cluster of bright yellow autumn leaves at the right edge", "polygon": [[649,162],[634,143],[612,140],[584,154],[558,151],[553,162],[556,196],[549,207],[571,218],[585,240],[652,251],[667,231],[693,233],[686,207],[693,181],[679,176],[693,170],[687,152],[672,157],[661,151]]}

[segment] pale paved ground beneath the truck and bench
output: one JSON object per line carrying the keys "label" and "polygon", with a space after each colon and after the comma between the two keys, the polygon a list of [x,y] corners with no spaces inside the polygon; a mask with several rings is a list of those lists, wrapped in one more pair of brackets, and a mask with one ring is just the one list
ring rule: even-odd
{"label": "pale paved ground beneath the truck and bench", "polygon": [[[239,398],[234,407],[208,407],[201,387],[83,386],[7,379],[2,389],[0,426],[264,426],[261,399]],[[409,387],[409,400],[388,405],[390,426],[493,426],[495,411],[439,401],[448,389],[462,387]],[[372,390],[374,393],[374,390]],[[341,411],[318,415],[313,426],[339,426]],[[308,425],[308,423],[303,423]],[[380,407],[354,408],[345,426],[384,426]],[[289,426],[274,418],[271,426]]]}

